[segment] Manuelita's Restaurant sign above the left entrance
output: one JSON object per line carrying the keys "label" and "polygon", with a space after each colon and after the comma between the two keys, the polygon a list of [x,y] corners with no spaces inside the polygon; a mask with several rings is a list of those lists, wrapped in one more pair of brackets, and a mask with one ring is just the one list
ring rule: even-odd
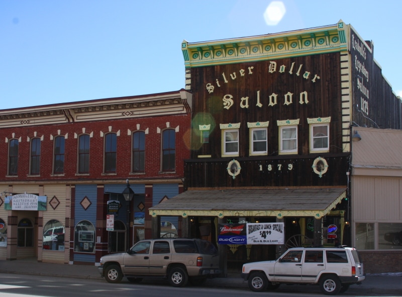
{"label": "Manuelita's Restaurant sign above the left entrance", "polygon": [[7,196],[4,209],[6,211],[46,211],[47,196],[35,194],[16,194]]}

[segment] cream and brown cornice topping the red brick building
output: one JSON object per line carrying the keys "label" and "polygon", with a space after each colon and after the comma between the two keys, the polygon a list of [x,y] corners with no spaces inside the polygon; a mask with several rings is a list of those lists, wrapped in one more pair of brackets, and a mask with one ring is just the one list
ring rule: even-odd
{"label": "cream and brown cornice topping the red brick building", "polygon": [[191,94],[180,90],[0,110],[0,128],[186,114],[190,106]]}

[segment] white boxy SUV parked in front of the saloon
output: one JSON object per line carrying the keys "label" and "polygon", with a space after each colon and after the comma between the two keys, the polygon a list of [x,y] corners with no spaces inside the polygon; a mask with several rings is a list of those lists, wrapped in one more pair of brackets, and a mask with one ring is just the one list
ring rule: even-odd
{"label": "white boxy SUV parked in front of the saloon", "polygon": [[256,292],[281,283],[318,284],[328,295],[345,292],[365,279],[359,254],[349,247],[291,248],[275,261],[244,264],[241,276]]}

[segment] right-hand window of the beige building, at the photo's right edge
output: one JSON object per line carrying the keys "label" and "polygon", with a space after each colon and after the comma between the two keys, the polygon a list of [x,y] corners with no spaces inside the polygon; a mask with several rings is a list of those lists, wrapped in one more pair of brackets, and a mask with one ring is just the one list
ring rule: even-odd
{"label": "right-hand window of the beige building, at the photo's right edge", "polygon": [[402,249],[402,223],[378,223],[378,249]]}

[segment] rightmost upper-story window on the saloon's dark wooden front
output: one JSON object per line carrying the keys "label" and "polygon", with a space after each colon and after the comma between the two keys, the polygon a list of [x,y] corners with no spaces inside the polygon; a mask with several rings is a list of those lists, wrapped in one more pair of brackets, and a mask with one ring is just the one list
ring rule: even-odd
{"label": "rightmost upper-story window on the saloon's dark wooden front", "polygon": [[329,152],[329,130],[331,117],[307,119],[310,124],[310,152]]}

